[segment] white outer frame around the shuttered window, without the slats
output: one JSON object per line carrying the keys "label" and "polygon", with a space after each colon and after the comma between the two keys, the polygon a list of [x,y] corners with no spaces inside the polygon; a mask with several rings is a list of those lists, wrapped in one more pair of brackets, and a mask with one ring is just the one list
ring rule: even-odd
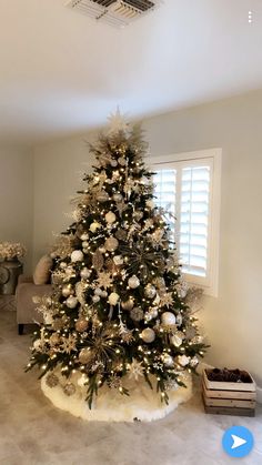
{"label": "white outer frame around the shuttered window, without the slats", "polygon": [[[219,292],[219,251],[220,251],[220,206],[221,206],[221,165],[222,149],[198,150],[182,152],[163,156],[150,156],[147,162],[152,171],[158,169],[178,169],[183,166],[195,166],[206,160],[210,165],[210,205],[209,205],[209,232],[208,232],[208,262],[206,276],[196,276],[184,273],[189,284],[198,285],[204,290],[204,294],[218,297]],[[181,195],[181,189],[177,195]],[[180,212],[179,212],[180,214]]]}

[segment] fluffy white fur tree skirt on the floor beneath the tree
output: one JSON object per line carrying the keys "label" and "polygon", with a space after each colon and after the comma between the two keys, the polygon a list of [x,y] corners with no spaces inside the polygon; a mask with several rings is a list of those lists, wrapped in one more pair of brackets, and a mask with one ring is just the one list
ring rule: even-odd
{"label": "fluffy white fur tree skirt on the floor beneath the tree", "polygon": [[[59,376],[58,373],[56,375]],[[85,401],[87,386],[79,386],[80,375],[74,376],[74,380],[70,380],[78,386],[73,395],[68,396],[63,393],[62,383],[66,384],[66,382],[61,375],[60,385],[56,387],[49,387],[46,383],[47,375],[43,376],[41,388],[56,407],[89,422],[133,422],[134,419],[151,422],[163,418],[192,395],[192,378],[187,374],[181,378],[188,387],[169,391],[169,405],[161,403],[160,393],[150,390],[143,378],[139,382],[128,380],[124,387],[129,390],[130,396],[121,395],[118,390],[103,386],[99,390],[99,395],[94,396],[92,410],[90,410]]]}

